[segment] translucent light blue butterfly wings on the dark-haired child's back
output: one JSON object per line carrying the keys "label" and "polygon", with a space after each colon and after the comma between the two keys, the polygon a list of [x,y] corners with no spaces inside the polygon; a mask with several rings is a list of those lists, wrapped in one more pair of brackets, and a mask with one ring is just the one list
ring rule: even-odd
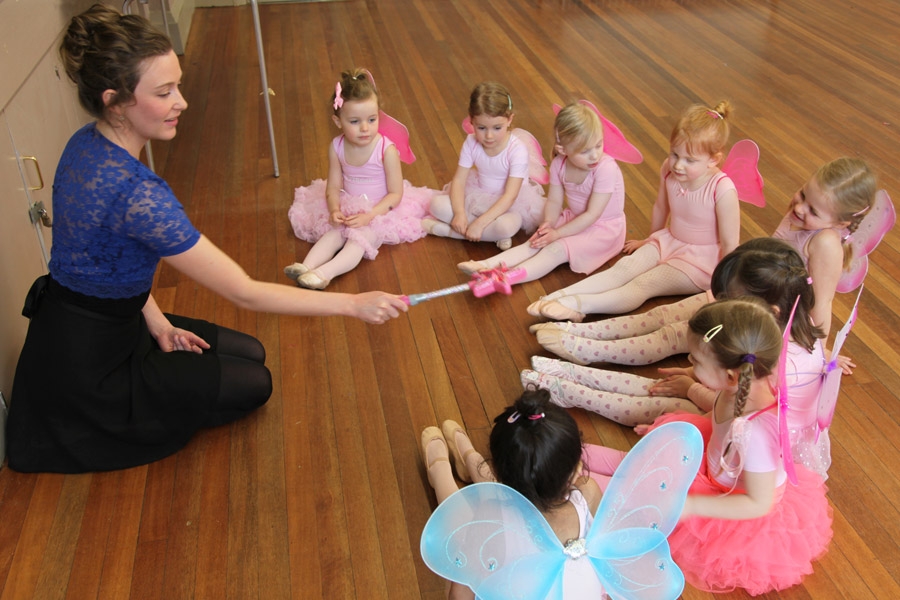
{"label": "translucent light blue butterfly wings on the dark-haired child's back", "polygon": [[[702,458],[703,441],[690,424],[669,423],[645,436],[613,476],[584,540],[583,557],[566,554],[546,519],[521,494],[479,483],[438,506],[422,533],[422,558],[435,573],[469,586],[484,600],[597,598],[601,585],[615,599],[677,598],[684,577],[666,537]],[[566,581],[578,585],[570,589]]]}

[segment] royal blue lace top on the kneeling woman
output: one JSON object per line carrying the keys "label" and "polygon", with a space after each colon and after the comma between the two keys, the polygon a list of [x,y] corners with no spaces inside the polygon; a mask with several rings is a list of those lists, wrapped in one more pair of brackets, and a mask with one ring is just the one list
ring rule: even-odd
{"label": "royal blue lace top on the kneeling woman", "polygon": [[97,131],[69,140],[53,183],[50,274],[98,298],[131,298],[153,284],[160,258],[200,239],[168,184]]}

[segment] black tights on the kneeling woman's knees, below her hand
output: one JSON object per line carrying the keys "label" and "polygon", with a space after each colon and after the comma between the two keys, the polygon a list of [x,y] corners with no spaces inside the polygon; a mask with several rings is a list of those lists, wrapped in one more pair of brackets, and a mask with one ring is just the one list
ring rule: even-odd
{"label": "black tights on the kneeling woman's knees, below her hand", "polygon": [[240,419],[266,403],[272,395],[272,374],[266,368],[266,349],[251,335],[219,327],[219,397],[207,425]]}

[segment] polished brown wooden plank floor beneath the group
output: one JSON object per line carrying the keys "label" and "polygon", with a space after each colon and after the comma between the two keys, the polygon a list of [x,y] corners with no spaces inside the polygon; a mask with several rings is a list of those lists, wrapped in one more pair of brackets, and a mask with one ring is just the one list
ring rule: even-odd
{"label": "polished brown wooden plank floor beneath the group", "polygon": [[[742,240],[772,232],[793,191],[841,155],[867,159],[900,199],[893,0],[352,0],[260,13],[281,177],[272,176],[248,6],[196,12],[183,61],[190,109],[155,158],[200,229],[263,280],[286,282],[282,268],[308,249],[287,209],[294,187],[326,175],[336,132],[328,97],[338,73],[357,65],[409,125],[418,160],[404,176],[416,185],[449,181],[468,93],[496,79],[511,90],[516,124],[547,154],[551,105],[581,97],[640,148],[647,160],[622,167],[629,237],[647,234],[669,131],[692,102],[731,100],[733,141],[761,148],[768,206],[743,206]],[[457,262],[494,252],[440,238],[384,247],[329,289],[428,291],[463,281]],[[844,379],[832,428],[834,541],[802,585],[765,598],[900,597],[898,275],[895,230],[874,254],[846,346],[859,367]],[[240,311],[162,268],[154,292],[164,309],[263,340],[272,399],[146,467],[4,469],[0,600],[442,598],[418,553],[435,505],[419,433],[456,419],[486,449],[492,417],[541,352],[525,307],[577,279],[561,267],[509,297],[452,296],[369,326]],[[837,299],[837,322],[851,303]],[[573,414],[586,441],[636,441]],[[684,597],[712,595],[688,588]]]}

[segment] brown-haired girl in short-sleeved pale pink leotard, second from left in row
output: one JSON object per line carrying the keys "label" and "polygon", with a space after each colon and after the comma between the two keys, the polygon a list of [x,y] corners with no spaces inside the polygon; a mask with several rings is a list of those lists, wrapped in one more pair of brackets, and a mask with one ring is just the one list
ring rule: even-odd
{"label": "brown-haired girl in short-sleeved pale pink leotard, second from left in row", "polygon": [[428,233],[496,242],[509,250],[520,229],[531,233],[537,227],[544,188],[529,178],[531,146],[537,141],[511,129],[514,116],[512,97],[502,84],[489,81],[472,90],[474,131],[463,142],[453,180],[431,200],[432,216],[422,220]]}

